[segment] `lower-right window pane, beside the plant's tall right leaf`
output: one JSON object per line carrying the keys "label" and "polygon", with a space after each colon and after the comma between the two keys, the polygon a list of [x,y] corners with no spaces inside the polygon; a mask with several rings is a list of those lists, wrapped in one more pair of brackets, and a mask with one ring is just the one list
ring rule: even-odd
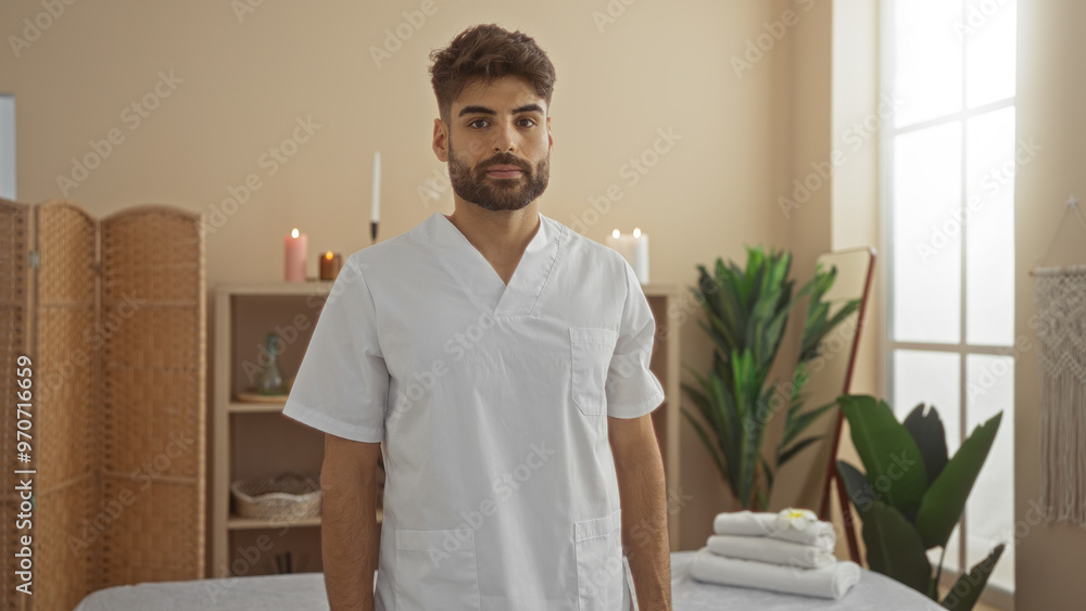
{"label": "lower-right window pane, beside the plant's tall right leaf", "polygon": [[988,459],[965,505],[965,562],[969,567],[999,543],[1007,548],[988,583],[1014,589],[1014,359],[969,355],[965,359],[969,432],[1003,412]]}

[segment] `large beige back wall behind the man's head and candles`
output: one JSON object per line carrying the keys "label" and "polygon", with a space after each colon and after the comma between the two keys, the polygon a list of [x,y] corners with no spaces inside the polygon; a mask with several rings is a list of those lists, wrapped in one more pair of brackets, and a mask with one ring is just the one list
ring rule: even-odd
{"label": "large beige back wall behind the man's head and candles", "polygon": [[[263,2],[240,21],[228,2],[76,2],[18,58],[0,49],[0,91],[14,93],[18,109],[18,200],[61,196],[56,177],[71,175],[72,157],[116,130],[123,141],[70,199],[98,216],[151,202],[209,213],[255,175],[260,188],[207,236],[209,288],[277,281],[282,236],[293,226],[308,234],[314,255],[368,245],[377,149],[381,239],[434,211],[451,212],[447,189],[437,201],[418,194],[444,171],[429,144],[437,113],[427,54],[467,25],[496,22],[535,36],[557,67],[543,214],[576,227],[592,218],[584,216],[590,199],[617,184],[621,200],[583,231],[603,240],[615,227],[640,226],[652,238],[652,280],[682,287],[685,297],[696,264],[742,258],[744,244],[784,246],[796,231],[776,204],[793,175],[790,117],[804,109],[794,94],[805,91],[787,80],[798,74],[791,34],[741,75],[731,59],[766,31],[763,22],[803,2],[627,2],[438,0],[380,67],[370,47],[384,44],[384,30],[404,24],[402,13],[421,1]],[[42,10],[39,2],[0,3],[5,39],[23,35],[25,18],[45,23]],[[613,22],[602,21],[601,31],[593,13],[608,11]],[[804,16],[798,28],[824,22]],[[168,97],[136,125],[125,110],[154,92],[160,73],[179,82],[159,86]],[[809,75],[804,87],[822,88],[821,78]],[[262,155],[307,117],[320,127],[272,175]],[[623,166],[668,129],[681,140],[631,184]],[[824,219],[819,226],[829,230]],[[818,244],[828,245],[829,236]],[[683,326],[682,359],[704,370],[710,347],[702,335],[696,324]],[[693,499],[682,509],[680,546],[691,548],[704,543],[711,517],[732,506],[685,425],[682,458],[680,484]]]}

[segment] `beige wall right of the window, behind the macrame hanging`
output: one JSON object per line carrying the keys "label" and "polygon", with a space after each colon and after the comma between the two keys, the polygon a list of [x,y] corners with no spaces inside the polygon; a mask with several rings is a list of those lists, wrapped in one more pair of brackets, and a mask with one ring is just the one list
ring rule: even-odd
{"label": "beige wall right of the window, behind the macrame hanging", "polygon": [[1019,2],[1018,137],[1044,147],[1019,168],[1014,194],[1015,338],[1020,348],[1030,346],[1016,359],[1014,375],[1015,608],[1024,611],[1077,609],[1086,598],[1086,531],[1038,524],[1034,509],[1040,501],[1040,390],[1032,326],[1034,282],[1028,275],[1058,228],[1045,264],[1086,262],[1086,231],[1064,216],[1063,205],[1071,193],[1086,200],[1084,26],[1086,4],[1077,0]]}

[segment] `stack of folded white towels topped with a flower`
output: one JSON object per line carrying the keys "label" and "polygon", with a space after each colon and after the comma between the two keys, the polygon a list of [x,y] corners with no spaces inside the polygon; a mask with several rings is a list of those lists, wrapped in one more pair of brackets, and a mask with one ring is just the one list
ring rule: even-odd
{"label": "stack of folded white towels topped with a flower", "polygon": [[806,509],[720,513],[691,564],[695,580],[838,599],[860,581],[860,567],[833,556],[833,524]]}

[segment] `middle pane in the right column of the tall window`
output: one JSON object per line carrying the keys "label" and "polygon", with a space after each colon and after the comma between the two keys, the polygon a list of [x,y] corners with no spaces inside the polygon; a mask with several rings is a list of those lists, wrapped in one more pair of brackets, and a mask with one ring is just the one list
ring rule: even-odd
{"label": "middle pane in the right column of the tall window", "polygon": [[[965,126],[965,341],[1014,342],[1014,109]],[[1025,163],[1028,163],[1026,161]]]}

